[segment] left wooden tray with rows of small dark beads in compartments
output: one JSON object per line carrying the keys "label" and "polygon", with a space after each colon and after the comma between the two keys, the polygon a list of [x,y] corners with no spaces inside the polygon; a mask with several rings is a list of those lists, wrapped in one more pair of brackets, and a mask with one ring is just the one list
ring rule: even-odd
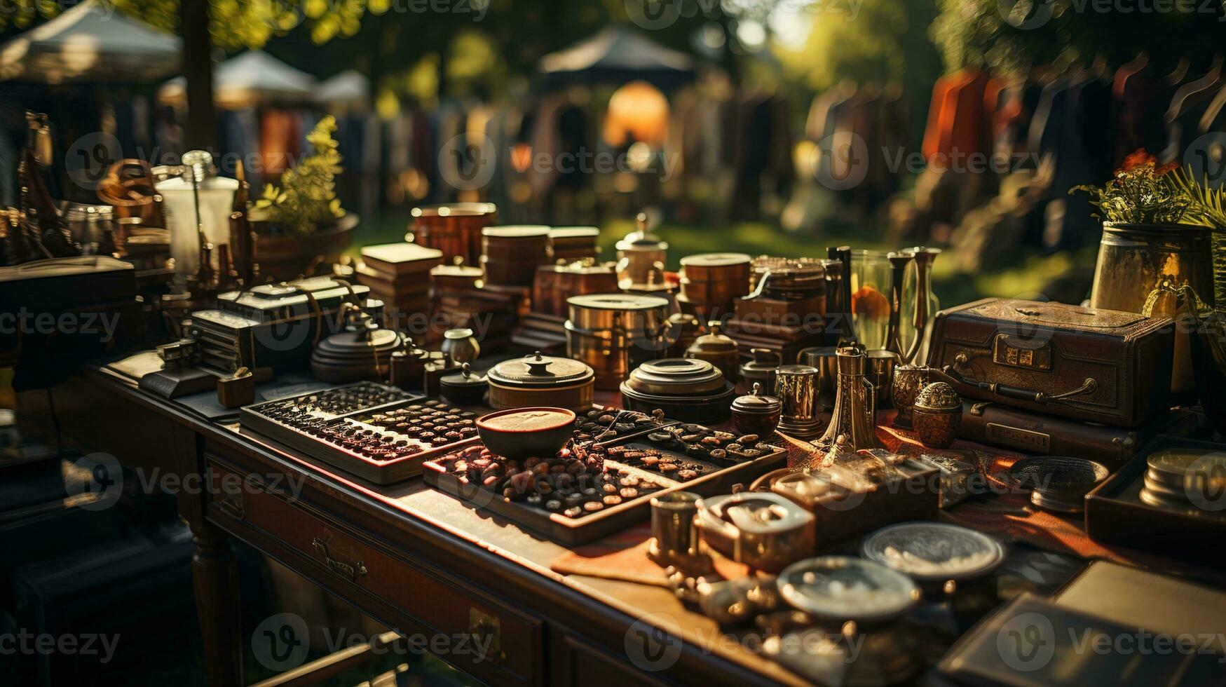
{"label": "left wooden tray with rows of small dark beads in compartments", "polygon": [[345,415],[284,405],[266,413],[266,405],[242,409],[244,429],[379,485],[416,477],[427,460],[478,440],[476,413],[421,396]]}

